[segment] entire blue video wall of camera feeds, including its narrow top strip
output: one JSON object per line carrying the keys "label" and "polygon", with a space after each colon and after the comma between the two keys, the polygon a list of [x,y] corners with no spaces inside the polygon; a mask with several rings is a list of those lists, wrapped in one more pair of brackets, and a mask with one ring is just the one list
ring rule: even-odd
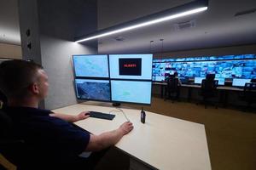
{"label": "entire blue video wall of camera feeds, including its narrow top strip", "polygon": [[256,78],[256,55],[225,55],[177,59],[154,59],[153,81],[164,81],[165,76],[175,71],[178,77]]}

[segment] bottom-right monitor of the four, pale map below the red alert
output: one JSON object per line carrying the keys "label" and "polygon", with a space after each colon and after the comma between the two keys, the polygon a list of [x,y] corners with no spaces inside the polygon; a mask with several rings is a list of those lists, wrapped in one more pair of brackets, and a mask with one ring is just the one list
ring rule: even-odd
{"label": "bottom-right monitor of the four, pale map below the red alert", "polygon": [[138,104],[151,103],[152,82],[111,80],[113,101]]}

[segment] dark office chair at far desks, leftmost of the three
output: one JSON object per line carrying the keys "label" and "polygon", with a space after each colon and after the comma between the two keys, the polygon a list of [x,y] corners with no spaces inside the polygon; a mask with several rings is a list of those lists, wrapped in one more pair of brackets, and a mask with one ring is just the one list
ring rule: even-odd
{"label": "dark office chair at far desks, leftmost of the three", "polygon": [[[178,99],[179,97],[179,90],[178,79],[175,77],[169,77],[166,87],[165,100],[172,99],[173,103],[174,99]],[[173,98],[172,94],[175,94],[175,98]]]}

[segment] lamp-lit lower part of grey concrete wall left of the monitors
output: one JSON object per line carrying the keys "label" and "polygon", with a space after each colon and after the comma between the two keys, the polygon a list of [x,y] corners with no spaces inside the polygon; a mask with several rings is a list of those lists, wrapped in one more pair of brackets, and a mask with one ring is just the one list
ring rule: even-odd
{"label": "lamp-lit lower part of grey concrete wall left of the monitors", "polygon": [[73,88],[73,54],[95,54],[96,49],[53,37],[41,37],[42,62],[49,77],[45,108],[51,110],[77,103]]}

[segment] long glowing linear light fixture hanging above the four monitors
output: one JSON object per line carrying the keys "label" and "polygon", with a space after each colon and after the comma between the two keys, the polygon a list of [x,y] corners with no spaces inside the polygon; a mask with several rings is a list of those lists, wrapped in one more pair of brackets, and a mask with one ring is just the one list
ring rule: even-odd
{"label": "long glowing linear light fixture hanging above the four monitors", "polygon": [[124,31],[131,31],[131,30],[141,28],[141,27],[144,27],[144,26],[151,26],[151,25],[154,25],[154,24],[158,24],[160,22],[164,22],[166,20],[177,19],[179,17],[183,17],[183,16],[186,16],[186,15],[189,15],[189,14],[199,13],[199,12],[202,12],[202,11],[205,11],[205,10],[207,10],[207,7],[194,8],[194,9],[190,9],[188,11],[182,12],[182,13],[171,14],[171,15],[167,15],[165,17],[161,17],[159,19],[148,20],[148,21],[144,21],[142,23],[136,24],[136,25],[125,26],[124,28],[119,28],[119,29],[116,29],[116,30],[113,30],[113,31],[107,31],[107,32],[99,33],[99,34],[96,34],[96,35],[93,35],[93,36],[84,37],[83,39],[79,39],[75,42],[85,42],[85,41],[89,41],[89,40],[96,39],[96,38],[99,38],[99,37],[107,37],[107,36],[110,36],[110,35],[113,35],[113,34],[116,34],[116,33],[124,32]]}

